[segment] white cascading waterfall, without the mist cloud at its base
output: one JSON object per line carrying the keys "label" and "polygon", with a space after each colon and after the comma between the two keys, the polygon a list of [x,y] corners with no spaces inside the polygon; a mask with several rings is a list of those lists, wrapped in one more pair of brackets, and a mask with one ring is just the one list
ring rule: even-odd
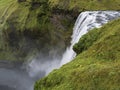
{"label": "white cascading waterfall, without the mist cloud at its base", "polygon": [[108,21],[120,17],[120,12],[118,11],[86,11],[82,12],[73,28],[73,35],[71,40],[71,45],[68,47],[63,54],[60,65],[64,65],[70,62],[75,56],[76,53],[73,51],[73,45],[77,43],[80,37],[86,34],[89,30],[93,28],[100,28],[103,24],[106,24]]}

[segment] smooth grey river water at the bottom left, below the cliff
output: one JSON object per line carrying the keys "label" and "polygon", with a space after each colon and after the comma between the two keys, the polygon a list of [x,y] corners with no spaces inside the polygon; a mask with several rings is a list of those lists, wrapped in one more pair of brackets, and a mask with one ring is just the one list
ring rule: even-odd
{"label": "smooth grey river water at the bottom left, below the cliff", "polygon": [[0,90],[33,90],[34,82],[24,68],[0,62]]}

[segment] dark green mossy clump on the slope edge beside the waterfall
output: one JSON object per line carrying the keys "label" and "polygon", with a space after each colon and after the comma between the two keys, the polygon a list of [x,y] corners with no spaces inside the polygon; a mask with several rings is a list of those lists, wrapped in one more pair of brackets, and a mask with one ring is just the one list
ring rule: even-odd
{"label": "dark green mossy clump on the slope edge beside the waterfall", "polygon": [[79,42],[73,46],[73,50],[77,54],[87,50],[100,37],[100,33],[101,33],[100,29],[94,29],[89,31],[88,34],[85,34],[84,36],[82,36]]}

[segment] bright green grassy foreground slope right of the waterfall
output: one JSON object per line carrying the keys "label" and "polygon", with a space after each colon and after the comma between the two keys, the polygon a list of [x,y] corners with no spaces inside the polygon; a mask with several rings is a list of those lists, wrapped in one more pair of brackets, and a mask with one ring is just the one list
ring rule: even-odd
{"label": "bright green grassy foreground slope right of the waterfall", "polygon": [[37,81],[34,90],[120,90],[120,19],[84,35],[77,57]]}

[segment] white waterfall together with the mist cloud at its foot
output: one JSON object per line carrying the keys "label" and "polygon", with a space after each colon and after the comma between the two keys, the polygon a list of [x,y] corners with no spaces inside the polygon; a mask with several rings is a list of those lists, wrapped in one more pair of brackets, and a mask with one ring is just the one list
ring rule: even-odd
{"label": "white waterfall together with the mist cloud at its foot", "polygon": [[110,20],[120,17],[118,11],[86,11],[82,12],[74,25],[71,45],[64,52],[62,59],[57,56],[51,60],[49,58],[39,58],[39,60],[32,60],[27,67],[30,76],[43,77],[51,72],[55,68],[59,68],[63,64],[70,62],[75,56],[75,52],[72,50],[73,45],[77,43],[80,37],[86,34],[93,28],[100,28],[103,24]]}

